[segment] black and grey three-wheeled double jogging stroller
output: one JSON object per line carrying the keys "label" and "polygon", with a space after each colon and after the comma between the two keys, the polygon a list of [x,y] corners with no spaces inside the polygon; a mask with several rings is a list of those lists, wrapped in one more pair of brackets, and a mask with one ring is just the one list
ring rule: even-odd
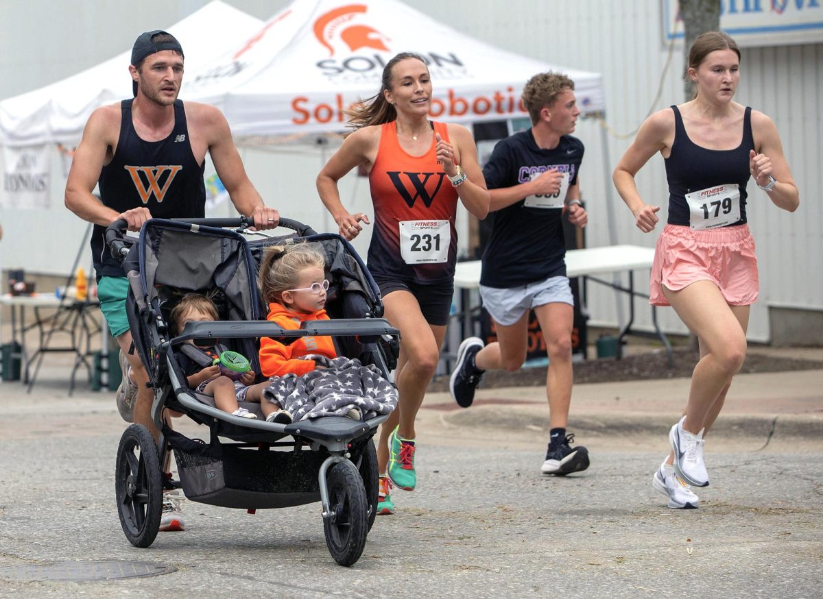
{"label": "black and grey three-wheeled double jogging stroller", "polygon": [[[120,439],[116,494],[123,532],[134,546],[147,547],[160,527],[164,489],[180,488],[187,499],[252,512],[321,501],[328,550],[342,565],[354,564],[377,513],[378,467],[372,437],[388,415],[364,414],[299,420],[289,425],[252,420],[218,410],[212,397],[189,389],[179,363],[180,347],[213,345],[216,340],[245,355],[259,373],[260,337],[284,343],[301,336],[329,335],[338,355],[376,366],[389,379],[396,364],[399,332],[384,318],[379,291],[360,257],[337,234],[317,234],[283,219],[294,230],[283,237],[254,239],[241,219],[165,221],[153,219],[136,242],[126,222],[106,230],[106,243],[123,260],[129,280],[127,311],[134,349],[154,391],[151,417],[160,430],[155,441],[142,425],[131,425]],[[231,229],[230,229],[231,228]],[[286,330],[265,320],[256,285],[265,246],[300,240],[315,244],[326,262],[328,321]],[[170,312],[186,293],[209,295],[220,320],[187,323],[175,332]],[[258,378],[263,380],[263,378]],[[259,404],[240,402],[249,411]],[[172,430],[164,410],[182,412],[209,430],[209,441],[188,439]],[[369,417],[371,416],[371,417]],[[163,465],[174,453],[179,481]]]}

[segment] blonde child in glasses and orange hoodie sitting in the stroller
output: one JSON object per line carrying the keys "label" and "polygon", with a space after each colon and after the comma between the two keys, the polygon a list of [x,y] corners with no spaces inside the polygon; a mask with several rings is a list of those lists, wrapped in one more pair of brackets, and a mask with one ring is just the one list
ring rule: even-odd
{"label": "blonde child in glasses and orange hoodie sitting in the stroller", "polygon": [[[305,245],[271,246],[260,261],[259,285],[268,304],[266,319],[283,328],[297,329],[305,320],[328,320],[328,281],[324,278],[323,256]],[[317,367],[307,355],[336,358],[332,337],[299,337],[289,345],[263,337],[260,340],[260,369],[267,377],[306,374]],[[263,413],[275,409],[266,406]]]}

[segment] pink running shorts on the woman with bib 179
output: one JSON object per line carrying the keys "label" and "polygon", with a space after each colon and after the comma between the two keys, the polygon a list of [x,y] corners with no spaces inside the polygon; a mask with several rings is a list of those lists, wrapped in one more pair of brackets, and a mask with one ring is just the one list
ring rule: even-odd
{"label": "pink running shorts on the woman with bib 179", "polygon": [[695,281],[712,281],[732,306],[754,304],[760,292],[755,240],[748,225],[691,230],[666,225],[654,251],[649,303],[669,305],[663,286],[679,291]]}

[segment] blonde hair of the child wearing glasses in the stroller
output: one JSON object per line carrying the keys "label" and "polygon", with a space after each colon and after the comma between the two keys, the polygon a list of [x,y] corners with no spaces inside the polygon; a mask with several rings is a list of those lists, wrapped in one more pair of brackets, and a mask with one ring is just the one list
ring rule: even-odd
{"label": "blonde hair of the child wearing glasses in the stroller", "polygon": [[324,270],[323,255],[306,244],[271,245],[263,250],[258,286],[267,304],[282,304],[283,291],[294,289],[305,268]]}

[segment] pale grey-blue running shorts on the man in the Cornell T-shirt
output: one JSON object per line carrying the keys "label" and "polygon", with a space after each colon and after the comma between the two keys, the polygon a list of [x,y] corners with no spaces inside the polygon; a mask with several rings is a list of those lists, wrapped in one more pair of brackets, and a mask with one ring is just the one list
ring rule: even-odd
{"label": "pale grey-blue running shorts on the man in the Cornell T-shirt", "polygon": [[574,296],[571,295],[566,276],[550,276],[543,281],[507,289],[481,285],[480,297],[483,308],[491,314],[495,323],[504,327],[517,323],[524,313],[537,306],[554,303],[574,306]]}

